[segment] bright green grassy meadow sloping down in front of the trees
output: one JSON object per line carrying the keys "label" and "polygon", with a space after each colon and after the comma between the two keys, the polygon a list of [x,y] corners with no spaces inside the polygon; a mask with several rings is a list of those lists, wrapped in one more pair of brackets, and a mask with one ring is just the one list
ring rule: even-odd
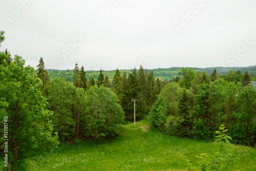
{"label": "bright green grassy meadow sloping down in front of the trees", "polygon": [[[29,170],[186,170],[178,164],[177,154],[183,153],[193,162],[201,153],[213,153],[215,143],[179,139],[162,134],[153,127],[142,132],[140,126],[123,125],[123,133],[115,139],[61,144],[45,157],[27,159]],[[240,161],[234,169],[256,170],[256,149],[240,148]],[[229,170],[234,170],[230,167]]]}

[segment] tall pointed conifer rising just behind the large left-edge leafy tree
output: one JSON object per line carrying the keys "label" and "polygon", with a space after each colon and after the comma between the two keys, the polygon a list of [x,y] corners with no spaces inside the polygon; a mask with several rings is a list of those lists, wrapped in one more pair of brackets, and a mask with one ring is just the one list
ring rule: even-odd
{"label": "tall pointed conifer rising just behind the large left-edge leafy tree", "polygon": [[48,94],[51,82],[50,82],[50,77],[48,75],[48,72],[45,69],[45,62],[42,59],[42,57],[40,57],[39,64],[36,67],[37,67],[37,70],[36,70],[37,71],[37,77],[42,80],[41,91],[44,94]]}

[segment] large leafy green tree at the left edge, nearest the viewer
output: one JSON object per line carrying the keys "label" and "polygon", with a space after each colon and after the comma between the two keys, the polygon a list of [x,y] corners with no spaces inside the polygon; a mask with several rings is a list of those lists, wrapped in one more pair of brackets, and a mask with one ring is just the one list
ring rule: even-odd
{"label": "large leafy green tree at the left edge, nearest the viewer", "polygon": [[[32,67],[24,65],[25,60],[18,55],[8,68],[0,65],[1,118],[8,117],[10,170],[25,169],[24,159],[58,145],[50,120],[53,113],[46,110],[47,101],[40,92],[42,82]],[[2,149],[4,139],[1,134]]]}

